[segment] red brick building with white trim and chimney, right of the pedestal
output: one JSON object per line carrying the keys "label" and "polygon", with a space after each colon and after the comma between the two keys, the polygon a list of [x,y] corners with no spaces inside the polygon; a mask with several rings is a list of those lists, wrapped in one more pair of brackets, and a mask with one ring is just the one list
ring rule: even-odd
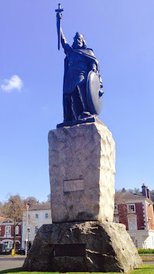
{"label": "red brick building with white trim and chimney, right of the pedestal", "polygon": [[133,192],[116,193],[114,222],[123,223],[138,248],[154,248],[153,201],[143,184],[142,195]]}

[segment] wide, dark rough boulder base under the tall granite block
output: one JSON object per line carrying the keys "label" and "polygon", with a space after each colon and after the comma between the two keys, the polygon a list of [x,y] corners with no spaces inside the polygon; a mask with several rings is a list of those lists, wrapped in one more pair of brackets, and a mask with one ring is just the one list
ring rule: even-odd
{"label": "wide, dark rough boulder base under the tall granite block", "polygon": [[125,225],[88,221],[42,225],[23,271],[127,273],[141,265]]}

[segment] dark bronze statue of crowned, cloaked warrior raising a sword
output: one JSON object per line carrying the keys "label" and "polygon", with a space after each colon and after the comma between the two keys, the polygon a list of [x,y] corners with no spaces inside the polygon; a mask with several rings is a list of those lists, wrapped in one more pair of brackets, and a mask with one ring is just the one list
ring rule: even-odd
{"label": "dark bronze statue of crowned, cloaked warrior raising a sword", "polygon": [[63,108],[64,123],[86,119],[101,112],[103,91],[99,75],[99,62],[92,49],[88,49],[82,34],[75,34],[70,47],[61,28],[62,11],[57,12],[58,49],[64,48]]}

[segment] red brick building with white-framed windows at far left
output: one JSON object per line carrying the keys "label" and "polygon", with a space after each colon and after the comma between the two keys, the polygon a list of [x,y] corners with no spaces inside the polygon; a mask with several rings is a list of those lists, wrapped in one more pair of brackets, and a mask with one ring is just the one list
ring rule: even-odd
{"label": "red brick building with white-framed windows at far left", "polygon": [[[0,254],[10,253],[14,243],[14,222],[0,213]],[[16,247],[21,247],[21,223],[16,226]]]}

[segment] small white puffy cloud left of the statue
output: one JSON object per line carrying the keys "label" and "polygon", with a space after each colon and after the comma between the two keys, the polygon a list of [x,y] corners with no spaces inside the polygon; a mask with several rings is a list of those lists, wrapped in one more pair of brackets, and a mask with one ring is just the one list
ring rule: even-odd
{"label": "small white puffy cloud left of the statue", "polygon": [[5,92],[12,92],[12,90],[21,91],[23,87],[23,81],[18,75],[13,75],[10,79],[4,79],[3,84],[1,85],[1,89]]}

